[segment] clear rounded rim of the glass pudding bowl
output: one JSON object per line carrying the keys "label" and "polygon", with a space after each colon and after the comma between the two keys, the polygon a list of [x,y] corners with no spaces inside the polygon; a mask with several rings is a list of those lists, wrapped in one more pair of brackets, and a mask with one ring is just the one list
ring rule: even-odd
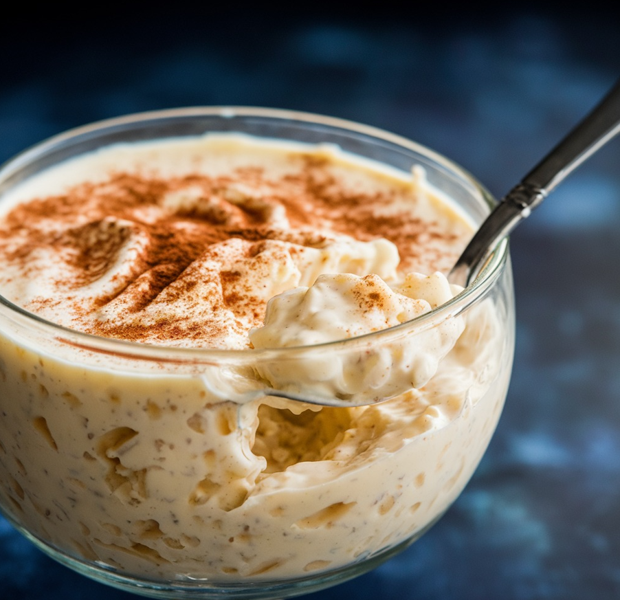
{"label": "clear rounded rim of the glass pudding bowl", "polygon": [[[443,155],[432,151],[430,148],[408,140],[406,137],[390,133],[374,126],[360,124],[354,121],[318,115],[315,113],[306,113],[300,111],[290,111],[285,109],[267,109],[261,107],[187,107],[179,109],[165,109],[159,111],[148,111],[142,113],[133,113],[122,117],[100,120],[69,129],[58,135],[47,138],[25,151],[15,155],[2,166],[0,166],[0,185],[6,181],[14,173],[19,172],[21,168],[32,164],[32,162],[44,157],[47,153],[63,146],[64,144],[78,143],[88,140],[89,138],[98,137],[106,132],[118,129],[119,131],[133,126],[134,128],[140,124],[144,126],[153,126],[156,122],[166,120],[183,120],[192,117],[221,117],[221,118],[264,118],[274,122],[280,120],[282,122],[298,122],[300,124],[314,124],[335,130],[345,130],[350,133],[357,133],[365,137],[374,138],[389,144],[400,146],[401,148],[412,151],[427,160],[435,162],[445,170],[450,171],[452,175],[456,175],[463,184],[472,186],[480,195],[480,199],[486,203],[489,209],[496,203],[496,199],[490,192],[467,170],[458,164],[447,159]],[[205,132],[207,133],[207,132]],[[252,135],[252,134],[250,134]],[[182,136],[179,136],[182,137]],[[158,139],[153,137],[153,140]],[[1,200],[1,194],[0,194]],[[348,351],[354,350],[360,345],[368,343],[386,343],[395,340],[402,335],[415,335],[419,331],[425,331],[432,328],[437,323],[442,322],[446,318],[465,311],[469,306],[475,304],[480,298],[483,298],[487,291],[493,287],[494,283],[500,276],[505,263],[508,260],[508,243],[504,239],[498,243],[493,249],[489,260],[480,269],[476,278],[461,293],[458,293],[450,301],[441,304],[432,311],[420,315],[410,321],[392,326],[388,329],[366,333],[357,337],[351,337],[346,340],[338,340],[335,342],[324,342],[313,346],[296,346],[287,348],[264,348],[260,350],[219,350],[212,348],[177,348],[170,346],[154,346],[150,344],[142,344],[139,342],[129,342],[126,340],[115,340],[113,338],[99,337],[89,333],[83,333],[65,326],[60,326],[54,322],[47,321],[34,313],[30,313],[18,305],[10,302],[0,295],[0,315],[16,322],[20,326],[36,329],[38,333],[55,337],[56,340],[71,344],[78,348],[95,353],[113,354],[135,359],[150,359],[157,362],[173,362],[176,364],[218,364],[219,362],[235,362],[247,364],[250,362],[259,362],[263,359],[274,360],[278,356],[286,355],[287,359],[291,359],[296,354],[300,357],[308,351]]]}

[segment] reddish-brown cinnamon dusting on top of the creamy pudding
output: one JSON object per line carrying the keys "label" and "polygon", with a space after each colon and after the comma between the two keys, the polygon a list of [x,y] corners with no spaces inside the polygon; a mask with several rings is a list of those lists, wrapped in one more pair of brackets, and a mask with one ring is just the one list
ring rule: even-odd
{"label": "reddish-brown cinnamon dusting on top of the creamy pudding", "polygon": [[[252,167],[165,179],[117,172],[17,205],[0,223],[3,261],[24,278],[45,275],[41,261],[55,264],[48,296],[14,300],[43,315],[69,313],[71,326],[96,335],[243,346],[265,313],[274,243],[288,244],[291,257],[334,234],[387,238],[408,270],[441,268],[458,254],[462,234],[418,216],[410,188],[353,189],[321,156],[291,155],[291,165],[278,178]],[[405,208],[394,212],[395,202]],[[247,273],[230,266],[238,264]],[[381,301],[364,293],[368,304]]]}

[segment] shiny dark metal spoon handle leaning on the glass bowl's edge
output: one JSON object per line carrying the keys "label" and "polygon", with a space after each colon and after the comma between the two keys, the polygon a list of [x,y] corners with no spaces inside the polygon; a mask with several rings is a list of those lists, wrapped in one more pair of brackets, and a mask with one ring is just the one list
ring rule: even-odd
{"label": "shiny dark metal spoon handle leaning on the glass bowl's edge", "polygon": [[505,238],[549,192],[620,132],[620,82],[496,205],[458,258],[447,278],[469,285],[496,245]]}

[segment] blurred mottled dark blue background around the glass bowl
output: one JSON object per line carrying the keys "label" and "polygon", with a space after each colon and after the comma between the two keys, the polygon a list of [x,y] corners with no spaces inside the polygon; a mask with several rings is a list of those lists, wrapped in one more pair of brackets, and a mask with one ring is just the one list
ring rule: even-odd
{"label": "blurred mottled dark blue background around the glass bowl", "polygon": [[[500,196],[618,78],[620,21],[592,3],[467,8],[4,19],[0,161],[124,113],[254,105],[405,135]],[[472,482],[408,551],[309,599],[620,597],[619,229],[615,140],[513,235],[516,363]],[[133,597],[55,564],[1,518],[0,582],[1,600]]]}

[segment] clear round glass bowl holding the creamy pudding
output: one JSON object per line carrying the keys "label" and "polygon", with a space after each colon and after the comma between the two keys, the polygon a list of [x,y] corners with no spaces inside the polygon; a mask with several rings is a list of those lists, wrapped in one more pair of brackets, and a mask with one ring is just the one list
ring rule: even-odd
{"label": "clear round glass bowl holding the creamy pudding", "polygon": [[[397,135],[239,107],[131,115],[58,135],[5,164],[0,202],[33,175],[98,148],[207,132],[331,144],[404,173],[421,167],[474,226],[494,204],[463,169]],[[368,398],[330,395],[311,380],[291,392],[290,381],[280,388],[247,376],[395,356],[455,319],[467,324],[465,333],[424,387],[423,402],[411,395],[358,407]],[[430,313],[315,346],[149,346],[72,331],[0,297],[0,507],[54,559],[145,596],[283,598],[319,590],[401,551],[450,507],[495,430],[513,346],[506,241],[469,287]],[[247,406],[265,399],[258,415],[268,413],[275,433],[248,422]],[[437,402],[450,410],[437,410]],[[247,463],[267,436],[283,447],[290,431],[297,444],[323,436],[321,444],[338,445],[364,427],[366,442],[353,456],[280,467],[263,460],[272,472],[256,488],[261,474],[248,482]],[[215,455],[212,436],[238,452]]]}

